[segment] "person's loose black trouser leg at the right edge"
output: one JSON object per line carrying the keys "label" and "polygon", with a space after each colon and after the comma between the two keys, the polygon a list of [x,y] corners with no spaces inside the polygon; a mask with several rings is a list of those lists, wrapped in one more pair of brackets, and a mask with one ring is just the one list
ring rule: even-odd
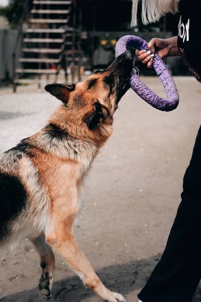
{"label": "person's loose black trouser leg at the right edge", "polygon": [[[170,188],[171,190],[171,188]],[[183,193],[165,251],[138,297],[190,302],[201,279],[201,126],[183,178]]]}

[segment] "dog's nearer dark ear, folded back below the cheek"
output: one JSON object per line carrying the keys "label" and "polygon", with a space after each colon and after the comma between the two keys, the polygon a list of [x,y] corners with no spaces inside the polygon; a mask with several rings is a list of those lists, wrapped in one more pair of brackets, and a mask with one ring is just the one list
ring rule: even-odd
{"label": "dog's nearer dark ear, folded back below the cheek", "polygon": [[94,103],[94,109],[86,113],[82,120],[86,123],[90,130],[97,128],[108,116],[108,109],[100,103]]}

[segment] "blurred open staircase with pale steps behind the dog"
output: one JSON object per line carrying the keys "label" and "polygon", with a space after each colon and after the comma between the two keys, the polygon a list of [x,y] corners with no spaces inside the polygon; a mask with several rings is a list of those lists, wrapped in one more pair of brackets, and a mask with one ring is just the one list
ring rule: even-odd
{"label": "blurred open staircase with pale steps behind the dog", "polygon": [[[41,87],[41,75],[57,75],[64,69],[67,81],[67,60],[65,50],[75,47],[75,29],[69,28],[70,13],[74,0],[33,0],[28,26],[23,38],[20,67],[16,69],[14,92],[18,83],[27,83],[28,74],[38,76]],[[59,8],[58,8],[59,6]]]}

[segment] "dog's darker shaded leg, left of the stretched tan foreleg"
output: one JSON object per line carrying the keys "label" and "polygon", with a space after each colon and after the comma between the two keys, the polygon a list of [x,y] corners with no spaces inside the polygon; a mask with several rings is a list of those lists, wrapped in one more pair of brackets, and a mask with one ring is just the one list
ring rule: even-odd
{"label": "dog's darker shaded leg, left of the stretched tan foreleg", "polygon": [[46,243],[44,235],[32,240],[32,243],[35,245],[36,250],[40,255],[42,267],[42,275],[40,277],[38,288],[40,295],[44,299],[48,300],[51,297],[53,284],[53,272],[55,266],[54,253],[51,247]]}

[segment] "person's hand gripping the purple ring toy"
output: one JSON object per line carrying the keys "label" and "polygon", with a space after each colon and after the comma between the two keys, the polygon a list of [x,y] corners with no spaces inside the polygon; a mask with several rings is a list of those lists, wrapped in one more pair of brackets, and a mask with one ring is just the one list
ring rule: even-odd
{"label": "person's hand gripping the purple ring toy", "polygon": [[138,56],[138,59],[144,64],[147,64],[148,68],[151,68],[153,65],[154,53],[157,51],[159,56],[164,59],[170,55],[171,49],[171,39],[159,39],[153,38],[149,43],[148,47],[150,50],[136,50],[135,54]]}

